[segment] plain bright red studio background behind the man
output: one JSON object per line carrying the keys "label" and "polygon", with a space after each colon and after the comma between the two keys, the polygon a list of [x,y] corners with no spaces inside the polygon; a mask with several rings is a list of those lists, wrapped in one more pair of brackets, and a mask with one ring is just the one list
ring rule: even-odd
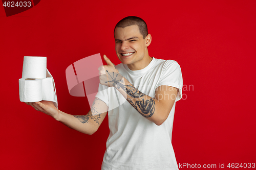
{"label": "plain bright red studio background behind the man", "polygon": [[0,7],[0,169],[100,169],[108,118],[93,135],[72,130],[20,102],[18,79],[24,56],[47,57],[59,109],[87,114],[87,98],[69,94],[65,70],[97,53],[119,64],[113,29],[129,15],[146,21],[150,56],[182,69],[172,140],[177,163],[256,163],[256,1],[41,0],[9,17]]}

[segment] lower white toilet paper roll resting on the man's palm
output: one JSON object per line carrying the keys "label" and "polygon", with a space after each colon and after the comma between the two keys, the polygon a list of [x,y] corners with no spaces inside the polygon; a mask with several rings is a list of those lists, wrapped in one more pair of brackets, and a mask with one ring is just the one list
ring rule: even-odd
{"label": "lower white toilet paper roll resting on the man's palm", "polygon": [[42,100],[42,79],[19,79],[19,100],[39,102]]}

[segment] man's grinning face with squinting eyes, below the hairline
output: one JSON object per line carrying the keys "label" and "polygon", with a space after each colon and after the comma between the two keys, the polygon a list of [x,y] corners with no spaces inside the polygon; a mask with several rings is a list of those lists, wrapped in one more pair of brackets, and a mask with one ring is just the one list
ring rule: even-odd
{"label": "man's grinning face with squinting eyes, below the hairline", "polygon": [[123,64],[136,64],[142,61],[148,45],[137,25],[117,27],[114,36],[116,55]]}

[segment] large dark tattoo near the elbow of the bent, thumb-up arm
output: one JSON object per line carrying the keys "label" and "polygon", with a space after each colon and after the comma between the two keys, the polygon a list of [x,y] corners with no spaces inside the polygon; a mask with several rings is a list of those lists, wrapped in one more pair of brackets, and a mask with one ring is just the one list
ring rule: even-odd
{"label": "large dark tattoo near the elbow of the bent, thumb-up arm", "polygon": [[144,117],[151,117],[155,112],[156,104],[152,98],[150,100],[146,100],[145,102],[142,98],[141,101],[136,101],[135,104],[131,99],[126,100]]}

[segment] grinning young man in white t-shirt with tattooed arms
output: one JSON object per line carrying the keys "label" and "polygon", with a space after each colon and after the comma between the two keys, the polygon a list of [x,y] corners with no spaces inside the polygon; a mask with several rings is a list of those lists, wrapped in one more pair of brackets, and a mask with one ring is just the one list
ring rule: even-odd
{"label": "grinning young man in white t-shirt with tattooed arms", "polygon": [[115,66],[104,55],[108,65],[99,67],[99,92],[87,115],[64,113],[47,101],[28,104],[86,134],[97,131],[108,112],[103,170],[178,169],[171,139],[175,103],[182,94],[180,66],[148,55],[152,38],[139,17],[120,20],[114,37],[122,63]]}

